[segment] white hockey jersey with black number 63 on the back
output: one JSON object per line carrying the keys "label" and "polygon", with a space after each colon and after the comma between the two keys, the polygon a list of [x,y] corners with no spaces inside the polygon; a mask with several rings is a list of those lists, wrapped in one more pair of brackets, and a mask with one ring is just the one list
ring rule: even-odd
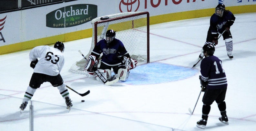
{"label": "white hockey jersey with black number 63 on the back", "polygon": [[50,76],[56,76],[60,73],[64,65],[63,53],[47,45],[37,46],[29,53],[29,60],[36,61],[35,73],[42,73]]}

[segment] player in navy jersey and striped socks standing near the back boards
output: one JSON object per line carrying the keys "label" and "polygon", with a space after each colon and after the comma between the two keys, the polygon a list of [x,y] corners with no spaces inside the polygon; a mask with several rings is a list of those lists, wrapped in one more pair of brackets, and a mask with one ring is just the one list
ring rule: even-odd
{"label": "player in navy jersey and striped socks standing near the back boards", "polygon": [[[215,8],[215,13],[210,18],[210,27],[207,33],[205,44],[218,44],[218,36],[222,34],[223,40],[225,40],[226,51],[230,59],[233,58],[233,40],[230,32],[230,26],[235,21],[235,16],[229,11],[225,10],[224,4],[219,4]],[[199,55],[198,60],[203,58],[203,52]]]}

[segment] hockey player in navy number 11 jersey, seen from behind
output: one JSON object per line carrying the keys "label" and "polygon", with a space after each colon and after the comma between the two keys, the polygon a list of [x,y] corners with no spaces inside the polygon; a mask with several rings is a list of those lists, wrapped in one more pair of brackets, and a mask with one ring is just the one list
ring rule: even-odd
{"label": "hockey player in navy number 11 jersey, seen from behind", "polygon": [[200,65],[201,75],[199,76],[203,95],[202,119],[197,122],[197,126],[205,128],[210,113],[211,104],[216,101],[220,110],[221,117],[219,120],[224,124],[228,123],[226,115],[226,91],[227,78],[225,71],[222,69],[222,61],[213,55],[215,48],[212,44],[203,46],[205,58],[202,59]]}

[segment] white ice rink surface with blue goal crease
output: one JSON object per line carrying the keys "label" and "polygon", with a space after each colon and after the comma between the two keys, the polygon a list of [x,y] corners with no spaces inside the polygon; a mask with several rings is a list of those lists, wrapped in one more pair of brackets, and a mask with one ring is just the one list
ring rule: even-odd
{"label": "white ice rink surface with blue goal crease", "polygon": [[[229,125],[219,121],[216,102],[211,105],[207,131],[251,131],[256,129],[256,13],[234,14],[233,60],[227,56],[221,37],[215,56],[222,60],[228,80],[226,94]],[[150,63],[131,70],[128,81],[106,86],[70,71],[87,54],[91,39],[64,42],[65,65],[60,73],[69,90],[73,107],[67,112],[57,88],[44,83],[36,90],[35,131],[196,131],[201,119],[200,63],[196,62],[206,40],[210,17],[150,25]],[[118,33],[117,33],[118,35]],[[57,41],[57,40],[56,40]],[[30,102],[21,114],[19,106],[33,73],[30,50],[0,55],[0,130],[28,131]],[[81,102],[85,100],[85,102]]]}

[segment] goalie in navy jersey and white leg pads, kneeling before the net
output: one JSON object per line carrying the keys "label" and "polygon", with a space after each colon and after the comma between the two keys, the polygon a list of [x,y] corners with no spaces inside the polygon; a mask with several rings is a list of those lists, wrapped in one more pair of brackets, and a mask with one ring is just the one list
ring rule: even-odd
{"label": "goalie in navy jersey and white leg pads, kneeling before the net", "polygon": [[[138,62],[130,58],[124,44],[115,37],[116,32],[114,30],[108,30],[106,32],[105,39],[97,42],[89,55],[85,70],[94,76],[94,68],[97,67],[98,58],[102,54],[99,72],[102,73],[105,79],[111,79],[111,69],[113,69],[115,78],[119,77],[121,81],[126,81],[130,70],[134,69]],[[95,77],[100,81],[97,75]]]}

